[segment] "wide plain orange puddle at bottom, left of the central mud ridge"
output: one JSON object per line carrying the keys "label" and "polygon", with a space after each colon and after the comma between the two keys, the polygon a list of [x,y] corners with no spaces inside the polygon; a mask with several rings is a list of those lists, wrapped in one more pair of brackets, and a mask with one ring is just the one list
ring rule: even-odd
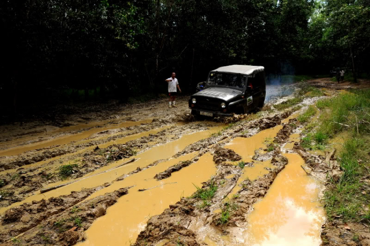
{"label": "wide plain orange puddle at bottom, left of the central mud ridge", "polygon": [[[183,159],[186,159],[186,156]],[[162,213],[169,205],[180,201],[181,197],[190,196],[196,191],[193,184],[201,186],[202,182],[216,173],[213,156],[207,153],[201,156],[196,163],[172,173],[172,176],[167,179],[161,181],[153,179],[155,173],[176,164],[174,161],[151,167],[147,169],[147,172],[143,171],[130,176],[131,178],[115,182],[94,194],[94,196],[102,195],[121,187],[136,185],[115,205],[109,207],[105,216],[94,221],[86,231],[87,240],[78,245],[120,246],[134,243],[139,233],[145,228],[150,216]],[[151,187],[154,188],[148,189]],[[138,191],[143,188],[148,190]]]}

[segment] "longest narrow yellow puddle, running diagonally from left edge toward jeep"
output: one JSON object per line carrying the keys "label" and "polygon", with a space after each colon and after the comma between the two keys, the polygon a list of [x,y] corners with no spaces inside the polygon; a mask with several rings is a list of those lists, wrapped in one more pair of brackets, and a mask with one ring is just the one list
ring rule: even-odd
{"label": "longest narrow yellow puddle, running diagonally from left edge toward jeep", "polygon": [[[221,130],[222,127],[223,127],[223,125],[215,126],[215,127],[210,128],[209,130],[204,130],[204,131],[184,135],[180,139],[177,139],[175,141],[166,143],[164,145],[153,147],[153,148],[149,149],[148,151],[145,151],[141,154],[138,154],[137,156],[133,156],[132,158],[138,159],[136,162],[131,163],[131,164],[127,164],[127,165],[123,165],[119,168],[113,169],[111,171],[104,172],[104,173],[99,174],[97,176],[94,176],[94,177],[91,177],[91,178],[86,178],[88,176],[92,176],[92,175],[100,173],[102,171],[109,170],[114,166],[117,166],[119,164],[122,164],[122,163],[128,161],[129,159],[124,159],[124,160],[120,160],[120,161],[117,161],[117,162],[113,162],[110,165],[99,168],[98,170],[95,170],[94,172],[89,173],[89,174],[83,176],[80,179],[76,179],[78,181],[73,183],[73,184],[58,188],[56,190],[52,190],[52,191],[46,192],[44,194],[40,194],[39,191],[38,191],[35,195],[26,198],[22,202],[14,203],[14,204],[12,204],[8,207],[0,208],[0,213],[3,213],[5,210],[7,210],[10,207],[14,207],[16,205],[20,205],[20,204],[23,204],[23,203],[26,203],[26,202],[30,203],[34,200],[39,201],[41,199],[49,199],[50,197],[58,197],[58,196],[61,196],[61,195],[68,195],[72,191],[79,191],[82,188],[92,188],[92,187],[102,185],[106,182],[111,182],[111,181],[115,180],[116,178],[118,178],[119,176],[121,176],[123,174],[127,174],[127,173],[137,169],[138,167],[147,166],[148,164],[151,164],[151,163],[153,163],[157,160],[171,158],[172,156],[174,156],[179,151],[182,151],[189,144],[192,144],[192,143],[197,142],[201,139],[209,137],[212,133],[215,133],[215,132],[218,132],[219,130]],[[71,180],[66,180],[66,181],[63,181],[63,182],[54,183],[50,186],[54,186],[56,184],[59,185],[59,184],[63,184],[63,183],[68,183],[70,181]]]}

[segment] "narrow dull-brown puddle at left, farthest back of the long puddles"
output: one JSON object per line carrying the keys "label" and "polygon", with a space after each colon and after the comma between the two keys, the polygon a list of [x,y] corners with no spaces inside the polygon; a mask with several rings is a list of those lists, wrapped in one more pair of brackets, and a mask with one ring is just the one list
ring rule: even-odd
{"label": "narrow dull-brown puddle at left, farthest back of the long puddles", "polygon": [[[41,148],[50,147],[53,145],[65,145],[73,141],[79,141],[79,140],[88,138],[92,134],[95,134],[101,131],[114,129],[114,128],[129,127],[129,126],[134,126],[134,125],[140,125],[142,123],[151,123],[151,122],[152,122],[152,119],[147,119],[147,120],[138,121],[138,122],[124,122],[124,123],[114,124],[114,125],[105,126],[105,127],[92,128],[92,129],[83,131],[81,133],[76,133],[72,135],[70,134],[70,135],[66,135],[62,137],[57,137],[54,139],[49,139],[49,140],[45,140],[45,141],[41,141],[37,143],[28,144],[25,146],[19,146],[19,147],[2,150],[0,151],[0,156],[15,156],[15,155],[21,154],[26,151],[41,149]],[[66,130],[67,129],[64,129],[64,131]]]}

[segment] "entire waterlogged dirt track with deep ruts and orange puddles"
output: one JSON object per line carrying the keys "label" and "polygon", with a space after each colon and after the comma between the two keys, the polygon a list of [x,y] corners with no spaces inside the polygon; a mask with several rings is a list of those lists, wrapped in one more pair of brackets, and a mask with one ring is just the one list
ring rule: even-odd
{"label": "entire waterlogged dirt track with deep ruts and orange puddles", "polygon": [[297,117],[339,93],[322,91],[226,119],[195,121],[183,96],[2,126],[0,244],[320,245],[323,180],[296,146]]}

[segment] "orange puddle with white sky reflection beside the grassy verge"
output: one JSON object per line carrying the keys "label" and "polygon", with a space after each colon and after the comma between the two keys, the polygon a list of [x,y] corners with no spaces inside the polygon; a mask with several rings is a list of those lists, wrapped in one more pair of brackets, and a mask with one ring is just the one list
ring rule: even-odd
{"label": "orange puddle with white sky reflection beside the grassy verge", "polygon": [[[288,164],[277,175],[266,196],[247,215],[247,224],[229,236],[209,233],[208,245],[319,246],[325,221],[318,201],[321,184],[307,176],[298,154],[284,154]],[[212,240],[210,240],[212,238]]]}

